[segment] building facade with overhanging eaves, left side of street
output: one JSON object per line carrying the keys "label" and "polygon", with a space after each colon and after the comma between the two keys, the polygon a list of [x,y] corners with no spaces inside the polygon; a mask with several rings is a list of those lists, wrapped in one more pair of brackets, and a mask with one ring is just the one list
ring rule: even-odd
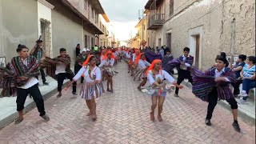
{"label": "building facade with overhanging eaves, left side of street", "polygon": [[16,56],[19,43],[31,50],[40,35],[46,56],[54,58],[64,47],[74,60],[78,43],[91,48],[95,35],[104,34],[99,14],[107,18],[98,0],[0,1],[0,61]]}

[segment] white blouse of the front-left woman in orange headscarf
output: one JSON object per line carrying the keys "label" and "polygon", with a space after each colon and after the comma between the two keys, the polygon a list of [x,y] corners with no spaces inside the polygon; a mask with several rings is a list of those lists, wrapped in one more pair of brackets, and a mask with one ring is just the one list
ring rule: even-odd
{"label": "white blouse of the front-left woman in orange headscarf", "polygon": [[89,75],[89,67],[87,68],[86,66],[82,66],[82,68],[78,71],[78,74],[76,74],[74,76],[74,81],[77,81],[78,78],[80,78],[82,76],[82,74],[84,74],[84,78],[85,78],[85,81],[86,82],[94,82],[93,79],[93,76],[95,75],[96,76],[96,79],[95,80],[102,80],[102,74],[101,74],[101,70],[95,66],[93,70],[91,70],[90,72],[90,75],[91,75],[91,78],[90,78],[90,75]]}

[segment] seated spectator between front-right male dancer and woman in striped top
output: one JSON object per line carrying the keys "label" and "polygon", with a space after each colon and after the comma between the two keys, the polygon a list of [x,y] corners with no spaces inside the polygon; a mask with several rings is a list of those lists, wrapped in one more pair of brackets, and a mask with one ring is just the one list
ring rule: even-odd
{"label": "seated spectator between front-right male dancer and woman in striped top", "polygon": [[235,64],[231,66],[232,71],[234,71],[235,77],[237,78],[237,82],[232,83],[232,86],[234,87],[234,97],[238,97],[239,92],[239,86],[242,83],[242,79],[240,78],[240,73],[242,71],[243,66],[246,65],[245,63],[246,55],[240,54],[238,55],[238,60]]}

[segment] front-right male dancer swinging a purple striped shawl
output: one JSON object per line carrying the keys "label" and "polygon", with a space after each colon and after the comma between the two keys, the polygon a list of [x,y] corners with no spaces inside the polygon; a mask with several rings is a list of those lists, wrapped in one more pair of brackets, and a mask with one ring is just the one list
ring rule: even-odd
{"label": "front-right male dancer swinging a purple striped shawl", "polygon": [[211,126],[210,119],[214,112],[214,107],[217,105],[218,99],[226,100],[230,103],[233,113],[234,122],[232,126],[234,130],[240,132],[238,125],[238,103],[234,99],[234,94],[230,90],[229,84],[235,82],[235,75],[226,67],[226,58],[218,55],[215,58],[216,67],[211,68],[202,73],[199,70],[192,68],[191,75],[193,77],[192,92],[202,101],[209,102],[206,114],[206,125]]}

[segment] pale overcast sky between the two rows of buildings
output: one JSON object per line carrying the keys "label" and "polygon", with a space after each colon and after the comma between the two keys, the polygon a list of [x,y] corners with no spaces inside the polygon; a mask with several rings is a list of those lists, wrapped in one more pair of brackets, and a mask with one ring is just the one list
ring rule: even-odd
{"label": "pale overcast sky between the two rows of buildings", "polygon": [[110,23],[114,26],[115,37],[119,40],[127,40],[130,33],[136,30],[138,23],[138,10],[144,9],[148,0],[99,0],[102,4]]}

